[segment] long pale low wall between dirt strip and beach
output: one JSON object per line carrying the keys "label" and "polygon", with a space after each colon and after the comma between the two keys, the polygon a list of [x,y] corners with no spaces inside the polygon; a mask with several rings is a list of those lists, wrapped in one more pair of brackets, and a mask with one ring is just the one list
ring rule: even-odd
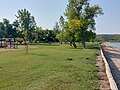
{"label": "long pale low wall between dirt strip and beach", "polygon": [[117,84],[116,84],[115,80],[113,79],[109,64],[104,56],[102,46],[100,46],[100,52],[101,52],[102,58],[103,58],[104,63],[105,63],[106,74],[107,74],[107,77],[108,77],[108,80],[110,83],[110,88],[111,88],[111,90],[118,90]]}

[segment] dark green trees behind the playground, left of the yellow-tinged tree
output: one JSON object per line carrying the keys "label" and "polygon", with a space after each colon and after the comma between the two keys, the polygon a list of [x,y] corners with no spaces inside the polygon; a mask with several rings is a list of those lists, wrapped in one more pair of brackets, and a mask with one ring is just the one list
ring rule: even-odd
{"label": "dark green trees behind the playground, left of the yellow-tinged tree", "polygon": [[58,42],[56,30],[43,30],[37,27],[34,17],[28,10],[18,10],[18,15],[15,16],[16,19],[12,24],[6,18],[0,22],[0,38],[23,38],[29,43]]}

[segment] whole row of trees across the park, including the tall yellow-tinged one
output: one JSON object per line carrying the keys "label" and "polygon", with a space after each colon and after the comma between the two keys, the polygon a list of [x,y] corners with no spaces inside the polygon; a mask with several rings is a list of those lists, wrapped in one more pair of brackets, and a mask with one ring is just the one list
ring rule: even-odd
{"label": "whole row of trees across the park, including the tall yellow-tinged one", "polygon": [[53,30],[38,27],[34,16],[26,9],[18,10],[15,21],[8,19],[0,22],[0,38],[23,38],[27,43],[70,42],[75,48],[81,42],[85,48],[86,41],[94,41],[95,17],[103,15],[99,5],[91,5],[89,0],[68,0],[64,16],[60,16]]}

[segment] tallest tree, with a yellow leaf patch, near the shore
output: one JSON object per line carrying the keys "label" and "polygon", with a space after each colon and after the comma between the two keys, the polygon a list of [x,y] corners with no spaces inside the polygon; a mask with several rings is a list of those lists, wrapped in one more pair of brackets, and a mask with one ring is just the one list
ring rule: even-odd
{"label": "tallest tree, with a yellow leaf patch, near the shore", "polygon": [[72,43],[75,44],[74,38],[79,32],[79,40],[82,40],[85,48],[85,34],[95,30],[95,17],[102,14],[102,8],[98,5],[90,6],[89,0],[68,0],[65,16],[68,21],[67,30],[72,34]]}

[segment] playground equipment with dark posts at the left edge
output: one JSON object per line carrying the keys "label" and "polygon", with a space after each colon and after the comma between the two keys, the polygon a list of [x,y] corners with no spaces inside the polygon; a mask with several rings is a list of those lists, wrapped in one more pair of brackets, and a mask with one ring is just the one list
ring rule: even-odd
{"label": "playground equipment with dark posts at the left edge", "polygon": [[0,38],[0,48],[18,48],[18,41],[16,38]]}

